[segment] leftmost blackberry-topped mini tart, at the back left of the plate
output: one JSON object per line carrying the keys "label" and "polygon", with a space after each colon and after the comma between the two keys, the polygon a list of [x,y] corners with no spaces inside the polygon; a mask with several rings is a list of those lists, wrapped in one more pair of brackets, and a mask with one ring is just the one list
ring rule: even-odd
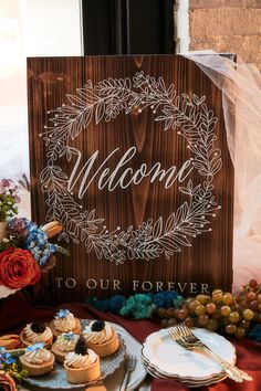
{"label": "leftmost blackberry-topped mini tart, at the back left of the plate", "polygon": [[20,339],[23,346],[43,342],[45,348],[51,348],[53,334],[50,327],[43,323],[33,321],[24,327],[20,334]]}

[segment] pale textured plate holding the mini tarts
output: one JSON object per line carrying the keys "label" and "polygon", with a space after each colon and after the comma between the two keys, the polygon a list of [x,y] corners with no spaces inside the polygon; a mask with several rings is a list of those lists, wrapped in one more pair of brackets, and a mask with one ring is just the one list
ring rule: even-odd
{"label": "pale textured plate holding the mini tarts", "polygon": [[66,373],[64,371],[63,366],[55,361],[54,369],[52,370],[51,373],[43,376],[41,378],[30,378],[30,377],[25,378],[24,383],[28,387],[30,387],[30,389],[32,389],[32,390],[35,390],[35,389],[44,390],[44,391],[45,390],[62,391],[62,390],[70,390],[70,389],[85,390],[86,385],[94,384],[97,381],[103,380],[106,377],[108,377],[109,374],[112,374],[123,362],[124,357],[125,357],[125,352],[126,352],[126,346],[125,346],[125,342],[119,334],[118,334],[118,338],[119,338],[118,350],[108,357],[101,358],[102,376],[93,382],[88,382],[88,383],[84,383],[84,384],[69,383],[66,380]]}

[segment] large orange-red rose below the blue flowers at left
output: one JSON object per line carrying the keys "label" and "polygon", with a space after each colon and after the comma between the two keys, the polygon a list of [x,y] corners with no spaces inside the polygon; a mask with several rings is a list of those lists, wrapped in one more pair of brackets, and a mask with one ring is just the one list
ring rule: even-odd
{"label": "large orange-red rose below the blue flowers at left", "polygon": [[0,285],[19,289],[40,281],[41,268],[29,250],[10,247],[0,253]]}

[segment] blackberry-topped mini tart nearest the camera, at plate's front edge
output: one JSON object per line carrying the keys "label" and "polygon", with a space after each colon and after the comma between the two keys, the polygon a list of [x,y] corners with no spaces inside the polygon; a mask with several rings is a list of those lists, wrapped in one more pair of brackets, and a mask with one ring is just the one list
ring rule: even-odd
{"label": "blackberry-topped mini tart nearest the camera, at plate's front edge", "polygon": [[70,383],[83,384],[97,380],[101,376],[100,357],[87,349],[84,338],[80,338],[74,351],[66,355],[64,369]]}

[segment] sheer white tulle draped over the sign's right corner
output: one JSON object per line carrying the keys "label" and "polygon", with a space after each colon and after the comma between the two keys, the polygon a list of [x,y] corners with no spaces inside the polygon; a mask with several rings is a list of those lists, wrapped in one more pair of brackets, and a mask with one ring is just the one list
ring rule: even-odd
{"label": "sheer white tulle draped over the sign's right corner", "polygon": [[212,51],[187,53],[222,91],[227,140],[234,166],[233,284],[261,281],[261,74]]}

